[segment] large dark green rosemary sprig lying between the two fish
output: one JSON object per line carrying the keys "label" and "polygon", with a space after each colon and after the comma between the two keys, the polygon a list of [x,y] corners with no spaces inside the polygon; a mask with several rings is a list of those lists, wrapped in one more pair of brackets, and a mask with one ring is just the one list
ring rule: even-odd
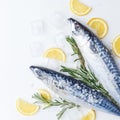
{"label": "large dark green rosemary sprig lying between the two fish", "polygon": [[74,52],[73,55],[77,54],[77,56],[79,57],[78,60],[80,61],[81,66],[80,66],[79,69],[71,69],[71,68],[61,66],[62,67],[61,71],[62,72],[67,72],[70,76],[85,82],[87,85],[89,85],[92,88],[100,91],[107,98],[112,100],[113,103],[117,104],[117,102],[109,95],[109,92],[103,87],[103,85],[96,78],[96,76],[91,71],[91,69],[90,68],[89,68],[89,70],[86,69],[85,60],[82,56],[82,53],[81,53],[80,49],[78,48],[77,43],[75,42],[75,40],[72,37],[67,37],[66,40],[72,47],[72,50]]}

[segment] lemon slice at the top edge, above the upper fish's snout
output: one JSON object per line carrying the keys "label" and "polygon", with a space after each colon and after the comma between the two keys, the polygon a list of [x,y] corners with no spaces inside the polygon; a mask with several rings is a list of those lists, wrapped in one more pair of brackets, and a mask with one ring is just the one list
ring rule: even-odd
{"label": "lemon slice at the top edge, above the upper fish's snout", "polygon": [[91,7],[81,3],[79,0],[70,0],[70,9],[78,16],[86,15],[91,11]]}

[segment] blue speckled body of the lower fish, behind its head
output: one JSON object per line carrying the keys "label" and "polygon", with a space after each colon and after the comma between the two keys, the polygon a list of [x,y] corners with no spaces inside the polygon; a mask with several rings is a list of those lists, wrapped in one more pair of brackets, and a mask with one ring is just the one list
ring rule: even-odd
{"label": "blue speckled body of the lower fish, behind its head", "polygon": [[81,101],[87,102],[95,107],[107,109],[108,111],[115,111],[119,113],[119,108],[116,109],[112,102],[108,102],[100,92],[91,87],[87,86],[85,83],[75,80],[71,77],[64,76],[62,74],[55,73],[54,81],[57,81],[57,86],[59,89],[69,92],[72,96],[80,99]]}

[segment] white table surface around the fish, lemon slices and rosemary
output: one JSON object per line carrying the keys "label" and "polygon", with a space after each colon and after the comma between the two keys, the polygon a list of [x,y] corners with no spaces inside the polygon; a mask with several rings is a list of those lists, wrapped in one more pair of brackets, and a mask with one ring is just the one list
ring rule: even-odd
{"label": "white table surface around the fish, lemon slices and rosemary", "polygon": [[[50,26],[56,13],[74,17],[86,23],[92,17],[104,18],[109,24],[108,35],[104,44],[111,49],[112,40],[120,34],[120,0],[81,0],[93,10],[84,17],[77,17],[69,10],[69,0],[1,0],[0,1],[0,118],[3,120],[57,120],[58,108],[40,110],[31,117],[22,116],[16,110],[16,99],[21,97],[32,101],[31,96],[38,88],[45,86],[29,70],[31,64],[41,64],[40,47],[62,47],[59,43],[52,45],[61,30]],[[45,24],[44,34],[36,35],[31,26],[36,22]],[[48,26],[46,25],[48,24]],[[56,23],[58,24],[58,23]],[[35,28],[39,29],[39,28]],[[58,29],[58,28],[57,28]],[[57,32],[56,32],[57,31]],[[34,33],[35,32],[35,33]],[[39,31],[37,31],[39,32]],[[63,37],[63,36],[62,36]],[[56,40],[56,39],[55,39]],[[41,46],[40,46],[40,44]],[[39,45],[38,45],[39,44]],[[32,45],[32,46],[31,46]],[[37,48],[36,48],[37,47]],[[31,50],[32,49],[32,50]],[[115,57],[117,64],[120,59]],[[68,60],[70,63],[70,61]],[[86,110],[86,109],[85,109]],[[85,110],[68,111],[63,120],[80,120]],[[104,112],[97,111],[97,120],[120,120]]]}

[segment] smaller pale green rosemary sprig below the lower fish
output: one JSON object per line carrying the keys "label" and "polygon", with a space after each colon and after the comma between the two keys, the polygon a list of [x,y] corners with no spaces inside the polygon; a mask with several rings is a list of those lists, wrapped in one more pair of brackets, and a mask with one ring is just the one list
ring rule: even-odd
{"label": "smaller pale green rosemary sprig below the lower fish", "polygon": [[40,103],[40,104],[47,104],[43,109],[47,109],[49,107],[54,107],[54,106],[59,106],[61,108],[60,112],[56,114],[57,119],[60,120],[63,114],[72,108],[79,108],[80,105],[76,105],[75,103],[68,102],[66,100],[63,100],[60,98],[60,100],[46,100],[44,97],[42,97],[39,93],[36,93],[32,96],[36,101],[35,103]]}

